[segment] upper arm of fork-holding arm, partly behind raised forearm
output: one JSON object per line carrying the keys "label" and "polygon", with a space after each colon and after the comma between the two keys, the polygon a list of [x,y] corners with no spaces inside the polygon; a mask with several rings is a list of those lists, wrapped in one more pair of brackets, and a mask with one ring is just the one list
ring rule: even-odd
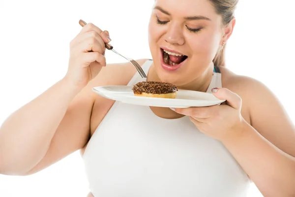
{"label": "upper arm of fork-holding arm, partly behind raised forearm", "polygon": [[89,83],[70,102],[43,159],[28,173],[38,172],[81,149],[89,140],[89,122],[94,93]]}

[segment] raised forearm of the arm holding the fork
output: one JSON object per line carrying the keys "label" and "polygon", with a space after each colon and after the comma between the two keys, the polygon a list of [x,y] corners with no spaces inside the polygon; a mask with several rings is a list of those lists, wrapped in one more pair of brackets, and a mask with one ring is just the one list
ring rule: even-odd
{"label": "raised forearm of the arm holding the fork", "polygon": [[38,164],[79,91],[60,80],[5,120],[0,127],[1,173],[24,173]]}

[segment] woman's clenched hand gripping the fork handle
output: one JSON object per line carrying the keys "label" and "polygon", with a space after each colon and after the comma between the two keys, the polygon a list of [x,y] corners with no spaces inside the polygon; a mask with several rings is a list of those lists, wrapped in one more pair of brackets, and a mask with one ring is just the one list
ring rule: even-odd
{"label": "woman's clenched hand gripping the fork handle", "polygon": [[69,65],[64,81],[75,89],[84,88],[102,66],[106,66],[104,52],[108,42],[108,33],[93,24],[85,26],[70,42]]}

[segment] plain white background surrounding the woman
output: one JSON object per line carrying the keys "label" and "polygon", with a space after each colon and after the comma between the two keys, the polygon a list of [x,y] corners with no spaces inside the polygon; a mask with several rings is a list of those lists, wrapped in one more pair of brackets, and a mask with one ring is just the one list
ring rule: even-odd
{"label": "plain white background surrounding the woman", "polygon": [[[0,0],[0,124],[63,77],[69,42],[81,30],[79,19],[108,30],[118,52],[151,58],[147,27],[153,2]],[[236,19],[227,66],[265,83],[295,122],[294,2],[240,0]],[[124,61],[109,51],[106,57],[108,63]],[[79,152],[34,175],[0,175],[0,197],[86,197],[88,192]],[[249,197],[260,196],[253,184]]]}

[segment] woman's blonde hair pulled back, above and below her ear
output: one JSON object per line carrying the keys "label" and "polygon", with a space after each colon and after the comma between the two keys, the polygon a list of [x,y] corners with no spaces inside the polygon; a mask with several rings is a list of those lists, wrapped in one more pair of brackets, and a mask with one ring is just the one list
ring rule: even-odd
{"label": "woman's blonde hair pulled back, above and below her ear", "polygon": [[[223,25],[228,25],[234,18],[234,12],[236,10],[236,4],[238,0],[210,0],[217,14],[222,16]],[[214,66],[225,66],[225,47],[223,47],[216,53],[213,63]]]}

